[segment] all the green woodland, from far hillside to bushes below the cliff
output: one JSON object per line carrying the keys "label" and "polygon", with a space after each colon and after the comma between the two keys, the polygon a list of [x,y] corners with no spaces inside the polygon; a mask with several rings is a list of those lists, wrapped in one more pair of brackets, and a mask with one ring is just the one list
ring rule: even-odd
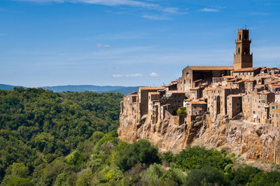
{"label": "all the green woodland, from far hillside to bushes below the cliff", "polygon": [[225,150],[118,139],[123,94],[0,90],[1,185],[280,185]]}

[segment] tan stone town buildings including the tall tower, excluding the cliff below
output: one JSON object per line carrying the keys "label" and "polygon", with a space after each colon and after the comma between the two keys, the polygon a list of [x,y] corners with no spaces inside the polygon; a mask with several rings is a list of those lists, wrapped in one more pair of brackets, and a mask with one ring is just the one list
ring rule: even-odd
{"label": "tan stone town buildings including the tall tower, excluding the cliff below", "polygon": [[[223,115],[279,127],[280,69],[253,67],[248,36],[248,29],[238,30],[233,66],[186,66],[169,85],[140,87],[138,94],[124,96],[121,118],[139,122],[148,115],[151,124],[163,120],[188,124],[203,115],[214,119]],[[181,107],[186,114],[177,112]]]}

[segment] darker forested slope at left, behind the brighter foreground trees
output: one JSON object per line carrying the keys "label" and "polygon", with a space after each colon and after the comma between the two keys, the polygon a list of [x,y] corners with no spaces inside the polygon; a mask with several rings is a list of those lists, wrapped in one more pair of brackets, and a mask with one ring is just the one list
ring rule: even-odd
{"label": "darker forested slope at left, behind the brighter foreground trees", "polygon": [[68,155],[94,131],[118,128],[122,94],[0,90],[0,180],[13,162],[33,172]]}

